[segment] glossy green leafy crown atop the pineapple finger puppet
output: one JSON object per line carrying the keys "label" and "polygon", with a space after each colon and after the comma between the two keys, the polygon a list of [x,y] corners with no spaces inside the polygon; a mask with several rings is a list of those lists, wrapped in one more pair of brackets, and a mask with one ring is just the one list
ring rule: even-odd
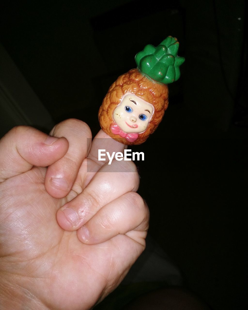
{"label": "glossy green leafy crown atop the pineapple finger puppet", "polygon": [[138,69],[157,82],[170,84],[180,78],[179,66],[185,58],[177,55],[179,42],[171,36],[163,40],[157,47],[145,46],[135,56]]}

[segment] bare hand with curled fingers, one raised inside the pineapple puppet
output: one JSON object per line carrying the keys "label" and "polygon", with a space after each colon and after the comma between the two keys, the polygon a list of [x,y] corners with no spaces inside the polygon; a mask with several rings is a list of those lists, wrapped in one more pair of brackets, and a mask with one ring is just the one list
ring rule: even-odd
{"label": "bare hand with curled fingers, one raised inside the pineapple puppet", "polygon": [[103,131],[89,143],[75,119],[50,135],[19,126],[0,140],[3,310],[90,309],[145,248],[149,211],[134,163],[97,160],[98,149],[124,145]]}

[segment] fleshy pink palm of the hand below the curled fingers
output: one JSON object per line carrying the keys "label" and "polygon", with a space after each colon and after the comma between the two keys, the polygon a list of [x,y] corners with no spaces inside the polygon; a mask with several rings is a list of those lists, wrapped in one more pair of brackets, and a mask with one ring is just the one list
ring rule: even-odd
{"label": "fleshy pink palm of the hand below the curled fingers", "polygon": [[[6,246],[1,256],[7,269],[16,263],[11,272],[29,275],[35,295],[49,307],[87,308],[117,286],[133,263],[130,253],[140,254],[143,247],[126,235],[86,245],[78,240],[76,231],[60,228],[56,211],[77,194],[72,190],[65,198],[51,197],[44,186],[45,173],[46,168],[33,167],[2,183],[15,196],[5,213]],[[9,245],[8,240],[12,240]]]}

